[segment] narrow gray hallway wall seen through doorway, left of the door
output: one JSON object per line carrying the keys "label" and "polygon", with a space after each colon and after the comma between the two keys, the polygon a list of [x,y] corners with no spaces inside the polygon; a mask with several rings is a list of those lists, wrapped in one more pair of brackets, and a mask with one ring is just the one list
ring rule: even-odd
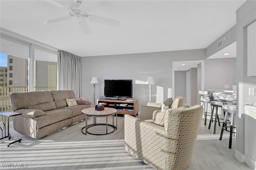
{"label": "narrow gray hallway wall seen through doorway, left of the door", "polygon": [[175,96],[186,97],[186,71],[174,71],[175,83],[174,93]]}

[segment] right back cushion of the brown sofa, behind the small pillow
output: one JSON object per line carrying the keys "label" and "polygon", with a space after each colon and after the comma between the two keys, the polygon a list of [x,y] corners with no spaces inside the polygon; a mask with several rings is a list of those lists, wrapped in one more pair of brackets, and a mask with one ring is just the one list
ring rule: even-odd
{"label": "right back cushion of the brown sofa, behind the small pillow", "polygon": [[57,109],[68,106],[66,99],[76,98],[73,90],[51,90]]}

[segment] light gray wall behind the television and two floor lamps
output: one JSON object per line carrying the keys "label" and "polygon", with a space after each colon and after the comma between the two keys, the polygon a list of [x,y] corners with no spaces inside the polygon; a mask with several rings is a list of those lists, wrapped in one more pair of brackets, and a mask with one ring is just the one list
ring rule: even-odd
{"label": "light gray wall behind the television and two floor lamps", "polygon": [[133,98],[138,99],[140,108],[149,100],[149,86],[145,84],[148,76],[156,82],[152,85],[151,101],[156,101],[157,86],[163,87],[165,100],[168,88],[172,88],[172,62],[204,58],[205,49],[81,57],[82,97],[93,101],[93,85],[90,84],[93,76],[100,82],[96,84],[96,98],[104,95],[104,79],[132,79]]}

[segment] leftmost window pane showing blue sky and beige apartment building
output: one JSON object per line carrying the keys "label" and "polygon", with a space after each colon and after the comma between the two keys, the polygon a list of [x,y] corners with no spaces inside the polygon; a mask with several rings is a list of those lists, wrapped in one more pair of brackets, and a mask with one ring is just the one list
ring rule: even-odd
{"label": "leftmost window pane showing blue sky and beige apartment building", "polygon": [[29,44],[0,39],[0,111],[11,110],[10,94],[28,91]]}

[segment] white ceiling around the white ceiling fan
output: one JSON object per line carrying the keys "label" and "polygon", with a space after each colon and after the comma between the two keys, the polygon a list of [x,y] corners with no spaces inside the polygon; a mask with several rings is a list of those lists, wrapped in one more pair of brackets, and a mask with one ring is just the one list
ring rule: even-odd
{"label": "white ceiling around the white ceiling fan", "polygon": [[236,10],[244,2],[86,0],[82,6],[90,14],[118,20],[120,26],[88,21],[92,33],[83,35],[77,20],[44,24],[68,16],[44,0],[0,0],[0,26],[81,57],[204,49],[236,24]]}

